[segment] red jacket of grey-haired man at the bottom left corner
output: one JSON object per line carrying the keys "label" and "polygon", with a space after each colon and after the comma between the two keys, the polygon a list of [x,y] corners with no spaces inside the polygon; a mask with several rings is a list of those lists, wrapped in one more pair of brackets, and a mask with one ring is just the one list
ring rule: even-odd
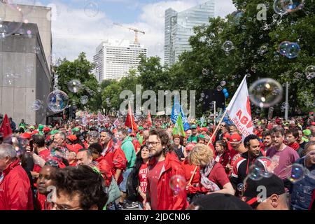
{"label": "red jacket of grey-haired man at the bottom left corner", "polygon": [[27,172],[20,160],[3,171],[0,182],[0,210],[33,210],[33,197]]}

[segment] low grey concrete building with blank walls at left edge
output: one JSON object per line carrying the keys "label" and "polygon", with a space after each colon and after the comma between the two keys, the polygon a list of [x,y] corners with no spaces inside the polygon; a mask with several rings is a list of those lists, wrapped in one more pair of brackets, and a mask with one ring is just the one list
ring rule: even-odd
{"label": "low grey concrete building with blank walls at left edge", "polygon": [[[45,123],[50,72],[37,25],[23,24],[29,35],[11,35],[0,41],[0,113],[15,123]],[[37,48],[37,50],[36,50]],[[37,52],[36,52],[37,51]],[[36,99],[44,102],[38,111],[29,109]]]}

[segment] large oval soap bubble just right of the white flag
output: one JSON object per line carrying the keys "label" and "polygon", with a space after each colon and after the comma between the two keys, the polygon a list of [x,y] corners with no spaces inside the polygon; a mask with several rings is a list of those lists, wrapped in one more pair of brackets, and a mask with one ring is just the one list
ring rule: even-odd
{"label": "large oval soap bubble just right of the white flag", "polygon": [[272,78],[258,79],[249,87],[249,99],[256,106],[270,107],[282,98],[282,86]]}

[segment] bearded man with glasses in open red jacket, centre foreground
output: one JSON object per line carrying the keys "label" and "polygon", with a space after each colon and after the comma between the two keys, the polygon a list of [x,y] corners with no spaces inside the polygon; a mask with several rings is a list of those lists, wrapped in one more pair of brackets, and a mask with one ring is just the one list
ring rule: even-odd
{"label": "bearded man with glasses in open red jacket, centre foreground", "polygon": [[167,132],[162,129],[151,130],[146,145],[151,157],[148,165],[146,210],[186,209],[186,181],[181,179],[185,172],[170,148]]}

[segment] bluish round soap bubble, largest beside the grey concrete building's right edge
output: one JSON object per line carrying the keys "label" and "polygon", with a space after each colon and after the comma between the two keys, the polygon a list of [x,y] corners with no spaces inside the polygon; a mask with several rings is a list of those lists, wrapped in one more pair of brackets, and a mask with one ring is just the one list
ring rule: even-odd
{"label": "bluish round soap bubble, largest beside the grey concrete building's right edge", "polygon": [[66,106],[68,106],[68,104],[69,97],[65,92],[61,90],[55,90],[48,94],[47,105],[50,111],[59,113],[66,109]]}

